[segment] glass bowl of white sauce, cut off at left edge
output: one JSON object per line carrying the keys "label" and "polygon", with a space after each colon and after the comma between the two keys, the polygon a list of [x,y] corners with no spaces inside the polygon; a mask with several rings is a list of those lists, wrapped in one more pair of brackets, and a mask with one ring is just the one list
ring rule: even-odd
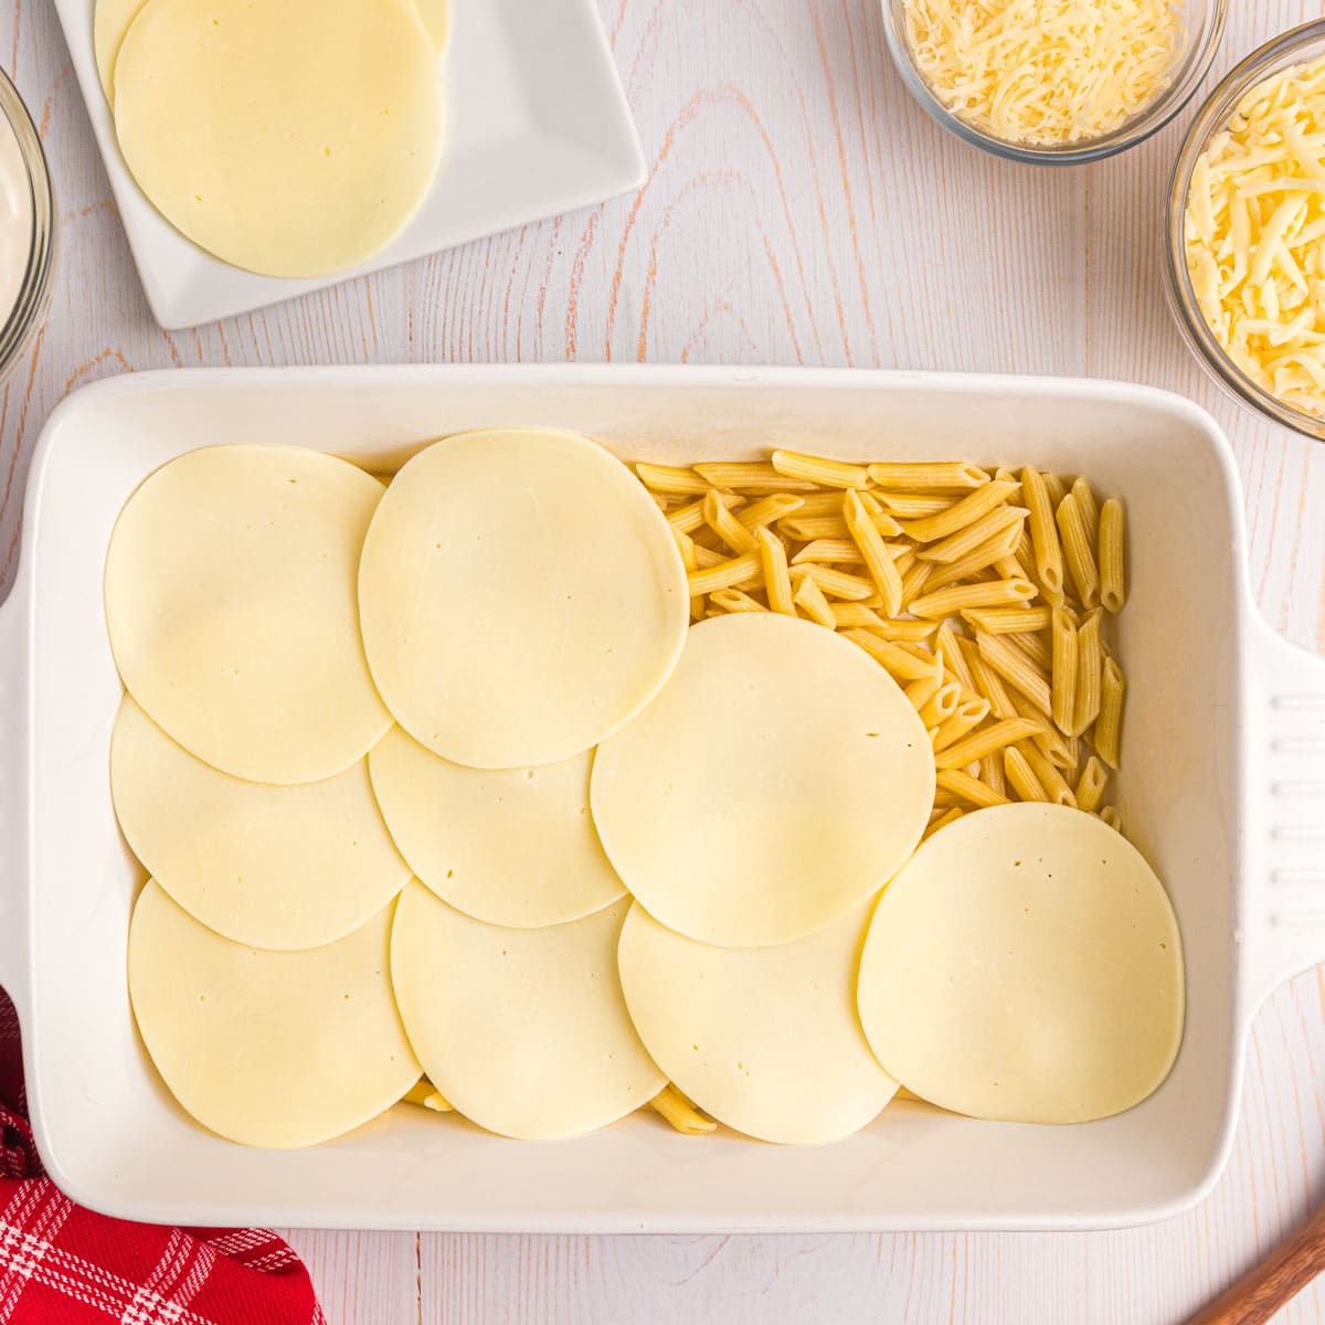
{"label": "glass bowl of white sauce, cut off at left edge", "polygon": [[56,207],[46,154],[28,107],[0,72],[0,382],[46,317]]}

